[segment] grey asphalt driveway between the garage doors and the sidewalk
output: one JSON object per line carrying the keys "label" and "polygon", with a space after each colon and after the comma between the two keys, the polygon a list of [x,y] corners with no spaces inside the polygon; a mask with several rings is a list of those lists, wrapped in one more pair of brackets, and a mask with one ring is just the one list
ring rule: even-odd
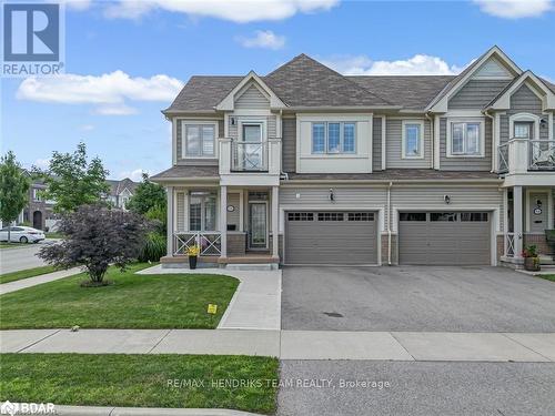
{"label": "grey asphalt driveway between the garage doors and the sidewalk", "polygon": [[282,328],[555,332],[555,283],[505,267],[285,267]]}

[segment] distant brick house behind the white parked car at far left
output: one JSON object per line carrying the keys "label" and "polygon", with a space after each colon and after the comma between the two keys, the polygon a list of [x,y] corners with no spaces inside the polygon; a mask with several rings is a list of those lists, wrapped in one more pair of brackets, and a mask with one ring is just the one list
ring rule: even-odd
{"label": "distant brick house behind the white parked car at far left", "polygon": [[54,213],[54,201],[44,199],[43,192],[47,189],[44,182],[40,179],[32,179],[29,187],[29,202],[22,211],[19,222],[30,224],[30,226],[56,231],[58,225],[58,215]]}

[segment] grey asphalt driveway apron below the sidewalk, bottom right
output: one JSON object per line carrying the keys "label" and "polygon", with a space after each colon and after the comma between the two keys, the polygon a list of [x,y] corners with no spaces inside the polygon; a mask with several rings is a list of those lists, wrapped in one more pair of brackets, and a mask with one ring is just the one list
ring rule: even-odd
{"label": "grey asphalt driveway apron below the sidewalk, bottom right", "polygon": [[555,415],[555,363],[283,361],[280,374],[278,416]]}

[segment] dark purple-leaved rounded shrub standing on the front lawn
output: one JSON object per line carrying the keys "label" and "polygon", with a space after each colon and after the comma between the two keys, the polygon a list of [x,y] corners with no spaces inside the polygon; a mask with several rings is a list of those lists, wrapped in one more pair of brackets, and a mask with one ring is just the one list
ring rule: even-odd
{"label": "dark purple-leaved rounded shrub standing on the front lawn", "polygon": [[124,270],[139,256],[148,224],[142,215],[93,204],[65,213],[59,232],[67,239],[42,247],[39,256],[56,267],[84,266],[92,284],[102,285],[110,264]]}

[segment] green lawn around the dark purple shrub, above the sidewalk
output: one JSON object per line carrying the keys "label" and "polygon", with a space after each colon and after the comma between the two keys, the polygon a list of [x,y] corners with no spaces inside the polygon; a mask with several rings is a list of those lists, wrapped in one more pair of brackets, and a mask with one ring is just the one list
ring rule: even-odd
{"label": "green lawn around the dark purple shrub, above the sidewalk", "polygon": [[[111,267],[109,286],[81,287],[82,273],[0,296],[0,328],[215,328],[239,281],[222,275],[134,274]],[[208,304],[218,313],[206,313]]]}

